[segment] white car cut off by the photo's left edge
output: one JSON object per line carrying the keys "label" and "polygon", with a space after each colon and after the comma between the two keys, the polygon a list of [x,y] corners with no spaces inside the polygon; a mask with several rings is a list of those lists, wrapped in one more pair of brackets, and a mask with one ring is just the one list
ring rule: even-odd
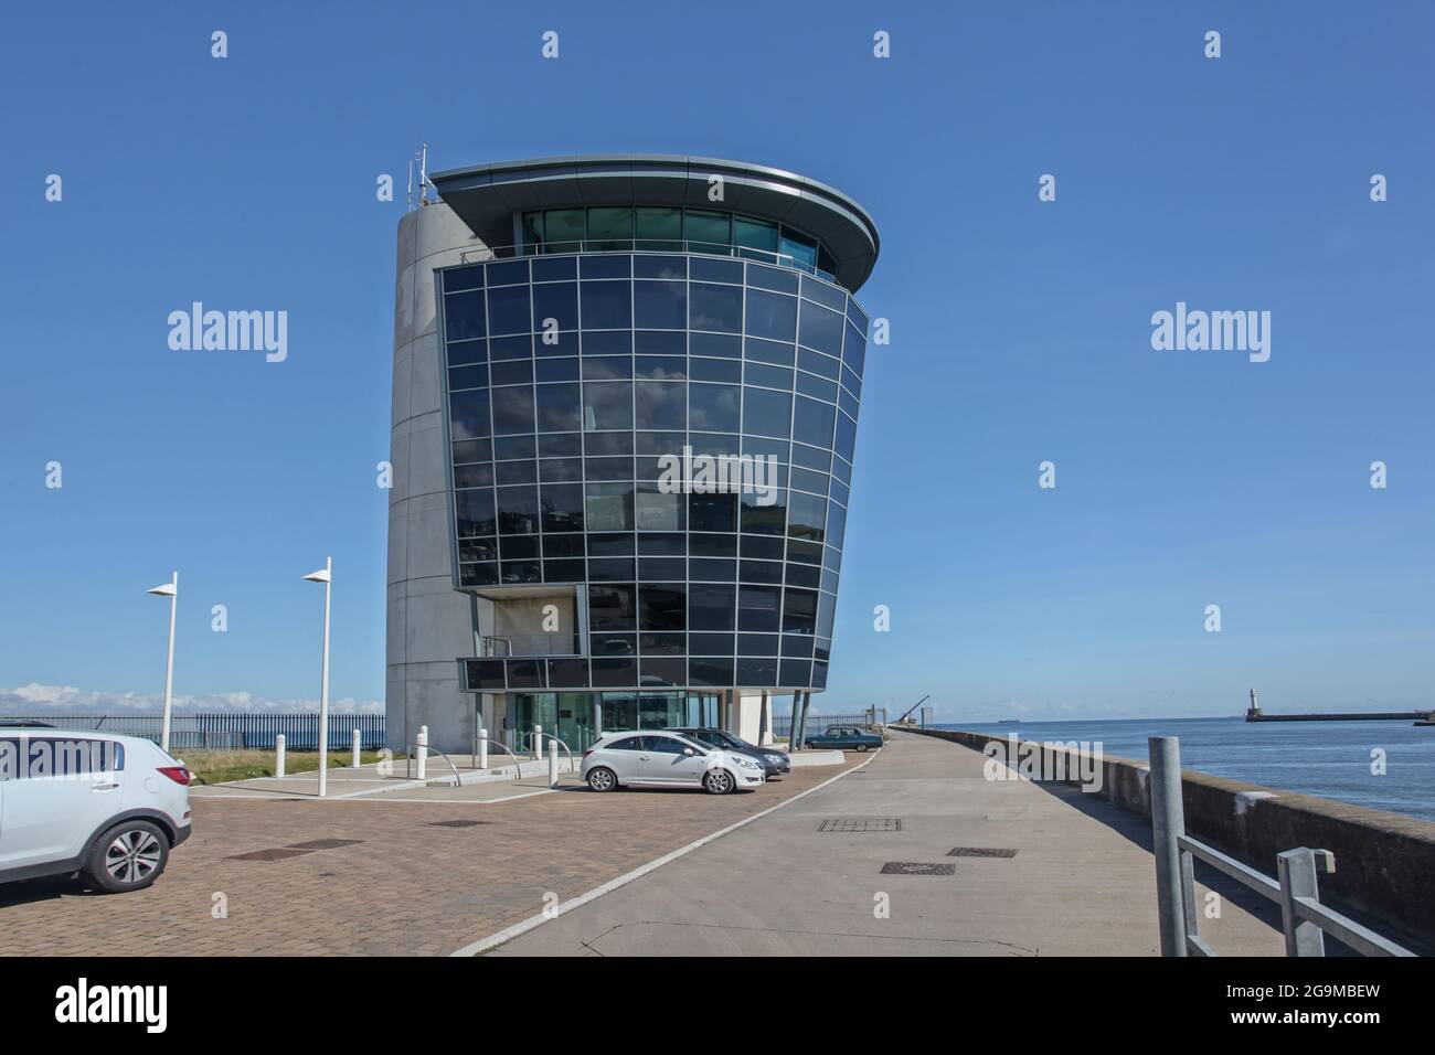
{"label": "white car cut off by the photo's left edge", "polygon": [[0,726],[0,883],[144,890],[189,838],[189,771],[138,736]]}

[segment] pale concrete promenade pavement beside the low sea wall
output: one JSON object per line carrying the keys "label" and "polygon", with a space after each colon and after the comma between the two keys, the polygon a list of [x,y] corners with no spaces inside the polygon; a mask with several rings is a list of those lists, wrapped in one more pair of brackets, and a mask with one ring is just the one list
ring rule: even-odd
{"label": "pale concrete promenade pavement beside the low sea wall", "polygon": [[[983,761],[894,733],[864,769],[488,955],[1157,955],[1148,821],[1075,788],[987,781]],[[950,874],[883,874],[893,863]],[[1274,906],[1207,891],[1217,952],[1281,955]]]}

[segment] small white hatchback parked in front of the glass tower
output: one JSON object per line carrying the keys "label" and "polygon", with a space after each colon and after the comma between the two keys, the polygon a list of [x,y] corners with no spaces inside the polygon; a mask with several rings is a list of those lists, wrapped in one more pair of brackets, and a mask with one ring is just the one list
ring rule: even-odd
{"label": "small white hatchback parked in front of the glass tower", "polygon": [[762,765],[733,751],[710,748],[674,732],[610,732],[583,752],[583,779],[593,791],[614,788],[702,788],[723,795],[755,788]]}

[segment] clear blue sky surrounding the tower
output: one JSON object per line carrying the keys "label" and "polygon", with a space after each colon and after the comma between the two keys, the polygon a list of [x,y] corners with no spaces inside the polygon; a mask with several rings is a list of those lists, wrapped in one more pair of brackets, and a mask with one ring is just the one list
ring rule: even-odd
{"label": "clear blue sky surrounding the tower", "polygon": [[[382,700],[375,464],[426,139],[435,169],[739,158],[877,218],[858,296],[893,343],[825,711],[1218,715],[1251,685],[1270,709],[1431,705],[1431,4],[85,9],[0,33],[0,702],[156,696],[144,590],[172,568],[177,693],[313,700],[300,576],[326,554],[333,696]],[[172,352],[194,300],[287,310],[287,362]],[[1270,362],[1152,350],[1178,300],[1269,310]]]}

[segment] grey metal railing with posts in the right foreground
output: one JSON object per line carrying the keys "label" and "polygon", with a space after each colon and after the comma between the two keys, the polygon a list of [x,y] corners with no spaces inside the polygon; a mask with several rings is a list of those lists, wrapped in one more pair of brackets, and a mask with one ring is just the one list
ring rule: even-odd
{"label": "grey metal railing with posts in the right foreground", "polygon": [[1217,955],[1200,933],[1200,916],[1195,910],[1197,858],[1280,906],[1286,956],[1325,956],[1326,934],[1362,956],[1415,956],[1409,949],[1320,903],[1317,876],[1336,870],[1335,854],[1329,850],[1299,847],[1276,854],[1279,878],[1273,880],[1187,835],[1180,741],[1175,736],[1151,736],[1148,745],[1162,956]]}

